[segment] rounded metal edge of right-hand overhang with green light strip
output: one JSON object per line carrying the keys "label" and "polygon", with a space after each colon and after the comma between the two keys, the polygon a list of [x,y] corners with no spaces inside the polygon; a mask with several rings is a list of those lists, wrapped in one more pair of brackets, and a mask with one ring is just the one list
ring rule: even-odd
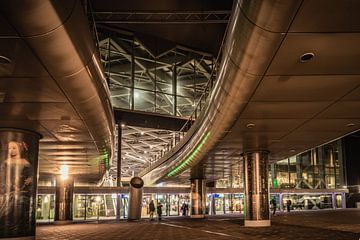
{"label": "rounded metal edge of right-hand overhang with green light strip", "polygon": [[300,1],[283,1],[281,9],[278,5],[235,1],[219,76],[207,108],[179,144],[181,147],[165,155],[168,160],[164,164],[141,173],[147,184],[196,165],[234,124],[284,38]]}

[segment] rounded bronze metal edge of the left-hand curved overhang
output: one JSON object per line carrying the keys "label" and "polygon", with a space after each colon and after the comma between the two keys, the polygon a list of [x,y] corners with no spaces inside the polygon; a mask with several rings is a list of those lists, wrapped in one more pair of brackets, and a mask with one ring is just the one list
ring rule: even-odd
{"label": "rounded bronze metal edge of the left-hand curved overhang", "polygon": [[[9,25],[45,68],[47,81],[55,81],[72,106],[71,112],[76,113],[75,118],[85,125],[99,156],[110,160],[114,145],[113,110],[81,2],[2,1],[0,6]],[[90,158],[93,156],[89,153]]]}

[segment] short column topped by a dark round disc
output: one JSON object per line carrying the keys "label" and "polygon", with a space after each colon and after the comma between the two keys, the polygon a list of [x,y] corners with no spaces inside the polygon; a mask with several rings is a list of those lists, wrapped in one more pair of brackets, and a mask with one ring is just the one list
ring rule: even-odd
{"label": "short column topped by a dark round disc", "polygon": [[133,177],[130,180],[128,220],[140,220],[141,218],[143,186],[144,181],[140,177]]}

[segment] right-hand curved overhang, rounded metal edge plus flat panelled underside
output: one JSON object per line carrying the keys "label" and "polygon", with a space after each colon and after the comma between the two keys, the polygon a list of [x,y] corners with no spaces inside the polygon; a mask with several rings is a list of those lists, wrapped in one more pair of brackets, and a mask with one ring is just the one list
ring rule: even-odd
{"label": "right-hand curved overhang, rounded metal edge plus flat panelled underside", "polygon": [[[346,10],[358,3],[332,1],[312,21],[323,4],[328,2],[234,4],[209,104],[183,141],[141,173],[148,184],[202,160],[213,165],[204,167],[211,180],[231,169],[225,158],[234,152],[266,149],[271,161],[281,160],[359,129],[359,19]],[[306,53],[313,58],[303,61]]]}

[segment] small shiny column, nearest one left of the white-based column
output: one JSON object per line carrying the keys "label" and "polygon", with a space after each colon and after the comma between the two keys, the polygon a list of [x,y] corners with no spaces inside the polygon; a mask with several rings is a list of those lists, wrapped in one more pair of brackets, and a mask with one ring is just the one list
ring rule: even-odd
{"label": "small shiny column, nearest one left of the white-based column", "polygon": [[191,179],[191,218],[204,218],[205,216],[205,181],[204,179]]}

